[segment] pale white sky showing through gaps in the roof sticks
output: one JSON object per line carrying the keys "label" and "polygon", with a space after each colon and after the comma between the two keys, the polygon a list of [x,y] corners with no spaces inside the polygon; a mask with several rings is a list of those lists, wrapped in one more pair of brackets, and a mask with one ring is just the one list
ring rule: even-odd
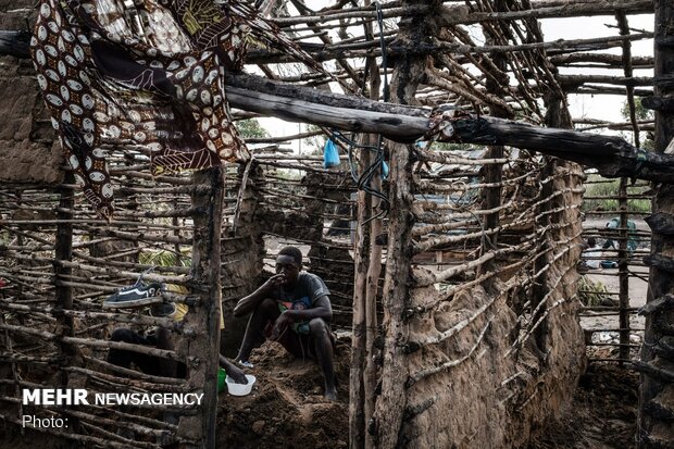
{"label": "pale white sky showing through gaps in the roof sticks", "polygon": [[[307,0],[307,4],[311,9],[321,9],[326,4],[332,4],[332,1],[326,0]],[[628,17],[629,27],[636,29],[644,29],[652,32],[653,29],[653,15],[641,14],[632,15]],[[613,16],[596,16],[596,17],[573,17],[573,18],[545,18],[540,21],[544,37],[546,41],[553,41],[557,39],[590,39],[597,37],[617,35],[616,28],[609,28],[608,25],[615,26],[616,21]],[[634,33],[634,32],[633,32]],[[608,50],[602,50],[603,53],[621,54],[622,49],[615,47]],[[652,55],[653,54],[653,41],[647,39],[642,41],[633,42],[632,47],[633,55]],[[581,72],[583,71],[583,72]],[[609,71],[598,68],[567,68],[561,67],[561,74],[597,74],[597,75],[614,75],[624,76],[622,71]],[[651,76],[652,70],[635,70],[634,76]],[[569,108],[571,115],[574,119],[598,119],[610,122],[623,122],[624,119],[621,115],[621,110],[625,101],[624,96],[617,95],[570,95]],[[297,123],[288,123],[278,119],[261,119],[260,123],[264,126],[273,136],[285,136],[300,133],[307,129],[305,125]],[[601,133],[610,133],[601,130]],[[301,144],[300,144],[301,145]],[[298,142],[294,142],[292,148],[295,152],[301,151],[298,148]]]}

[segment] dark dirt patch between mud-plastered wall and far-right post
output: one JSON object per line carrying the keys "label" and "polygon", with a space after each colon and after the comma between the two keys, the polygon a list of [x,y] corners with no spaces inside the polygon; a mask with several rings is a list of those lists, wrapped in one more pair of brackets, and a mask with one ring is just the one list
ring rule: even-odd
{"label": "dark dirt patch between mud-plastered wall and far-right post", "polygon": [[573,403],[528,449],[624,449],[634,446],[639,376],[615,363],[591,363]]}

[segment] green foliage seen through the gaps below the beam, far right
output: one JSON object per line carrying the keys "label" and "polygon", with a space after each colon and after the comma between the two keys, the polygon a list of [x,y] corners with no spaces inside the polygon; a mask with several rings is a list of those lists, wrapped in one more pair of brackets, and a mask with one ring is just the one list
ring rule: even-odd
{"label": "green foliage seen through the gaps below the beam, far right", "polygon": [[[607,179],[600,175],[590,175],[587,178],[591,184],[585,186],[585,197],[617,197],[620,179]],[[648,186],[627,186],[627,195],[639,195],[648,190]],[[617,199],[586,199],[583,200],[583,211],[617,211]],[[651,202],[648,199],[627,200],[628,212],[649,213]]]}

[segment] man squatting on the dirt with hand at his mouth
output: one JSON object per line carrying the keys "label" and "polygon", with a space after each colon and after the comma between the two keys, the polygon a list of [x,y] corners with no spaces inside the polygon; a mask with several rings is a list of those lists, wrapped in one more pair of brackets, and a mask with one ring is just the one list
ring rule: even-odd
{"label": "man squatting on the dirt with hand at his mouth", "polygon": [[235,316],[252,312],[236,360],[252,366],[248,358],[254,347],[265,338],[278,341],[297,358],[317,359],[325,379],[325,397],[335,400],[329,291],[323,279],[301,269],[301,251],[283,248],[276,258],[276,275],[236,304]]}

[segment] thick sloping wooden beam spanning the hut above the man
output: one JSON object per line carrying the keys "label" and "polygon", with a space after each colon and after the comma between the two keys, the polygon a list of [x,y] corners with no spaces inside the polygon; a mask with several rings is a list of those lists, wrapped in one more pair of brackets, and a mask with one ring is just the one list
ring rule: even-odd
{"label": "thick sloping wooden beam spanning the hut above the man", "polygon": [[[226,92],[233,108],[290,122],[382,134],[400,142],[420,139],[432,127],[429,109],[380,103],[246,74],[228,74]],[[609,177],[674,183],[674,157],[638,150],[617,137],[465,114],[451,119],[441,132],[444,140],[538,151],[595,167]]]}

